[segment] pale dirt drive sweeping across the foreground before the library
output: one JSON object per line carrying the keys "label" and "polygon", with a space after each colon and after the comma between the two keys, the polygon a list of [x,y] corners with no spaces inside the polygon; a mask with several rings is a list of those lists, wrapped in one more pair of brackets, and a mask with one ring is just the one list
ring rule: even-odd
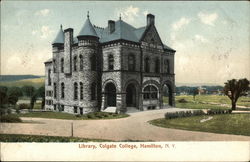
{"label": "pale dirt drive sweeping across the foreground before the library", "polygon": [[60,120],[22,118],[38,123],[1,123],[0,133],[70,136],[73,123],[74,136],[84,138],[146,141],[250,141],[248,136],[226,135],[160,128],[147,123],[163,118],[164,113],[184,109],[161,109],[131,113],[130,117],[113,120]]}

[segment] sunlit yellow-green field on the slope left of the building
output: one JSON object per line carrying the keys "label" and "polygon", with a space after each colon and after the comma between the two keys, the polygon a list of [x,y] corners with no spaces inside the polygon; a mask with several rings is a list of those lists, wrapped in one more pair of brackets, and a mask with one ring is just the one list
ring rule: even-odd
{"label": "sunlit yellow-green field on the slope left of the building", "polygon": [[18,81],[8,81],[8,82],[0,82],[0,86],[7,87],[23,87],[23,86],[34,86],[35,88],[39,88],[44,86],[44,77],[35,78],[35,79],[23,79]]}

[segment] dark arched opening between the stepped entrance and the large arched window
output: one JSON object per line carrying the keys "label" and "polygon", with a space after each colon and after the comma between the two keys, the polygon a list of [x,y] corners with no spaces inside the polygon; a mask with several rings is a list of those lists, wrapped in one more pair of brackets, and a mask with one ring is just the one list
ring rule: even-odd
{"label": "dark arched opening between the stepped entrance and the large arched window", "polygon": [[136,107],[136,87],[132,83],[126,88],[126,105],[127,107]]}

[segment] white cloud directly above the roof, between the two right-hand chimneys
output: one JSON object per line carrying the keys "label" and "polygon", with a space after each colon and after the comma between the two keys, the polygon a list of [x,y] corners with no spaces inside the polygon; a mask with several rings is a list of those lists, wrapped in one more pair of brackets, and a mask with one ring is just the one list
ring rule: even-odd
{"label": "white cloud directly above the roof, between the two right-hand chimneys", "polygon": [[138,7],[133,7],[132,5],[118,9],[116,15],[120,15],[123,20],[133,23],[135,18],[138,17],[140,9]]}

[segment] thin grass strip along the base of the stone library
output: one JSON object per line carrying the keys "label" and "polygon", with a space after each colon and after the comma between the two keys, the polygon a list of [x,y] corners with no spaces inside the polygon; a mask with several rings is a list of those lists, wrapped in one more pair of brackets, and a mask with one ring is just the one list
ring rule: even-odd
{"label": "thin grass strip along the base of the stone library", "polygon": [[80,116],[63,112],[31,112],[26,114],[18,114],[19,117],[34,118],[52,118],[52,119],[68,119],[68,120],[92,120],[92,119],[117,119],[128,117],[128,114],[115,114],[108,112],[93,112]]}

